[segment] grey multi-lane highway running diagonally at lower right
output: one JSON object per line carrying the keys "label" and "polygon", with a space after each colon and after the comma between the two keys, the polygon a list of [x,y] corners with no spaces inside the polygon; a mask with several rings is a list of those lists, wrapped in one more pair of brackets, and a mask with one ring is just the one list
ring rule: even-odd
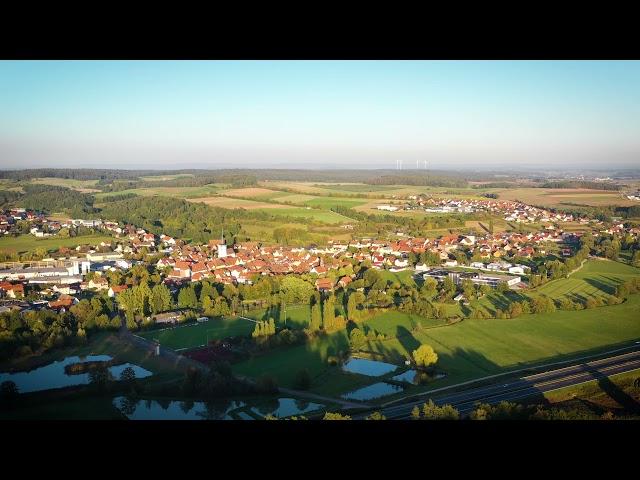
{"label": "grey multi-lane highway running diagonally at lower right", "polygon": [[[434,399],[437,405],[453,405],[461,416],[468,415],[477,402],[495,404],[503,400],[514,401],[558,388],[579,385],[591,380],[608,377],[617,373],[640,369],[640,347],[632,352],[615,355],[600,360],[581,362],[569,367],[529,375],[506,383],[498,383],[452,393]],[[410,403],[393,405],[380,409],[387,419],[403,420],[411,417],[413,407],[422,406],[428,400],[428,394]],[[364,418],[369,414],[355,415]]]}

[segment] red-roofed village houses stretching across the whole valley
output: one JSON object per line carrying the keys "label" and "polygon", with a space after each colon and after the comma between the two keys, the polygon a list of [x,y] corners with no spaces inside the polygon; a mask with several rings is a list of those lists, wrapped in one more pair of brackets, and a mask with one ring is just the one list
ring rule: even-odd
{"label": "red-roofed village houses stretching across the whole valley", "polygon": [[[439,206],[451,204],[441,201]],[[568,221],[544,210],[512,202],[457,201],[463,208],[486,208],[500,211],[513,221]],[[593,220],[580,219],[582,223]],[[438,238],[407,238],[388,241],[360,238],[351,241],[330,241],[325,246],[268,246],[258,242],[227,244],[224,233],[208,244],[187,244],[171,236],[155,235],[134,225],[119,225],[112,221],[67,220],[51,221],[43,214],[24,209],[4,212],[0,216],[11,231],[16,222],[27,222],[32,235],[52,235],[62,228],[86,227],[108,232],[111,243],[79,245],[75,249],[61,247],[55,258],[32,262],[5,262],[0,266],[0,312],[48,308],[66,311],[78,302],[78,296],[106,293],[116,297],[127,285],[110,283],[108,271],[127,271],[133,265],[155,267],[163,282],[172,291],[185,283],[209,280],[232,285],[251,285],[260,276],[312,275],[318,291],[344,288],[355,275],[339,275],[353,264],[368,264],[373,269],[401,272],[412,270],[416,276],[442,281],[451,278],[456,284],[465,279],[477,285],[497,288],[526,288],[526,277],[535,265],[531,259],[544,256],[550,245],[563,257],[573,253],[581,233],[563,232],[546,227],[542,231],[500,232],[485,235],[441,235]],[[596,221],[597,222],[597,221]],[[595,223],[595,222],[594,222]],[[601,223],[601,222],[599,222]],[[47,232],[47,233],[44,233]],[[630,234],[637,237],[637,228],[613,224],[601,233]],[[82,237],[78,237],[82,243]],[[557,246],[561,246],[558,248]],[[137,260],[132,259],[136,256]],[[151,261],[153,259],[151,265]],[[343,270],[344,271],[344,270]],[[27,300],[27,297],[29,300]]]}

